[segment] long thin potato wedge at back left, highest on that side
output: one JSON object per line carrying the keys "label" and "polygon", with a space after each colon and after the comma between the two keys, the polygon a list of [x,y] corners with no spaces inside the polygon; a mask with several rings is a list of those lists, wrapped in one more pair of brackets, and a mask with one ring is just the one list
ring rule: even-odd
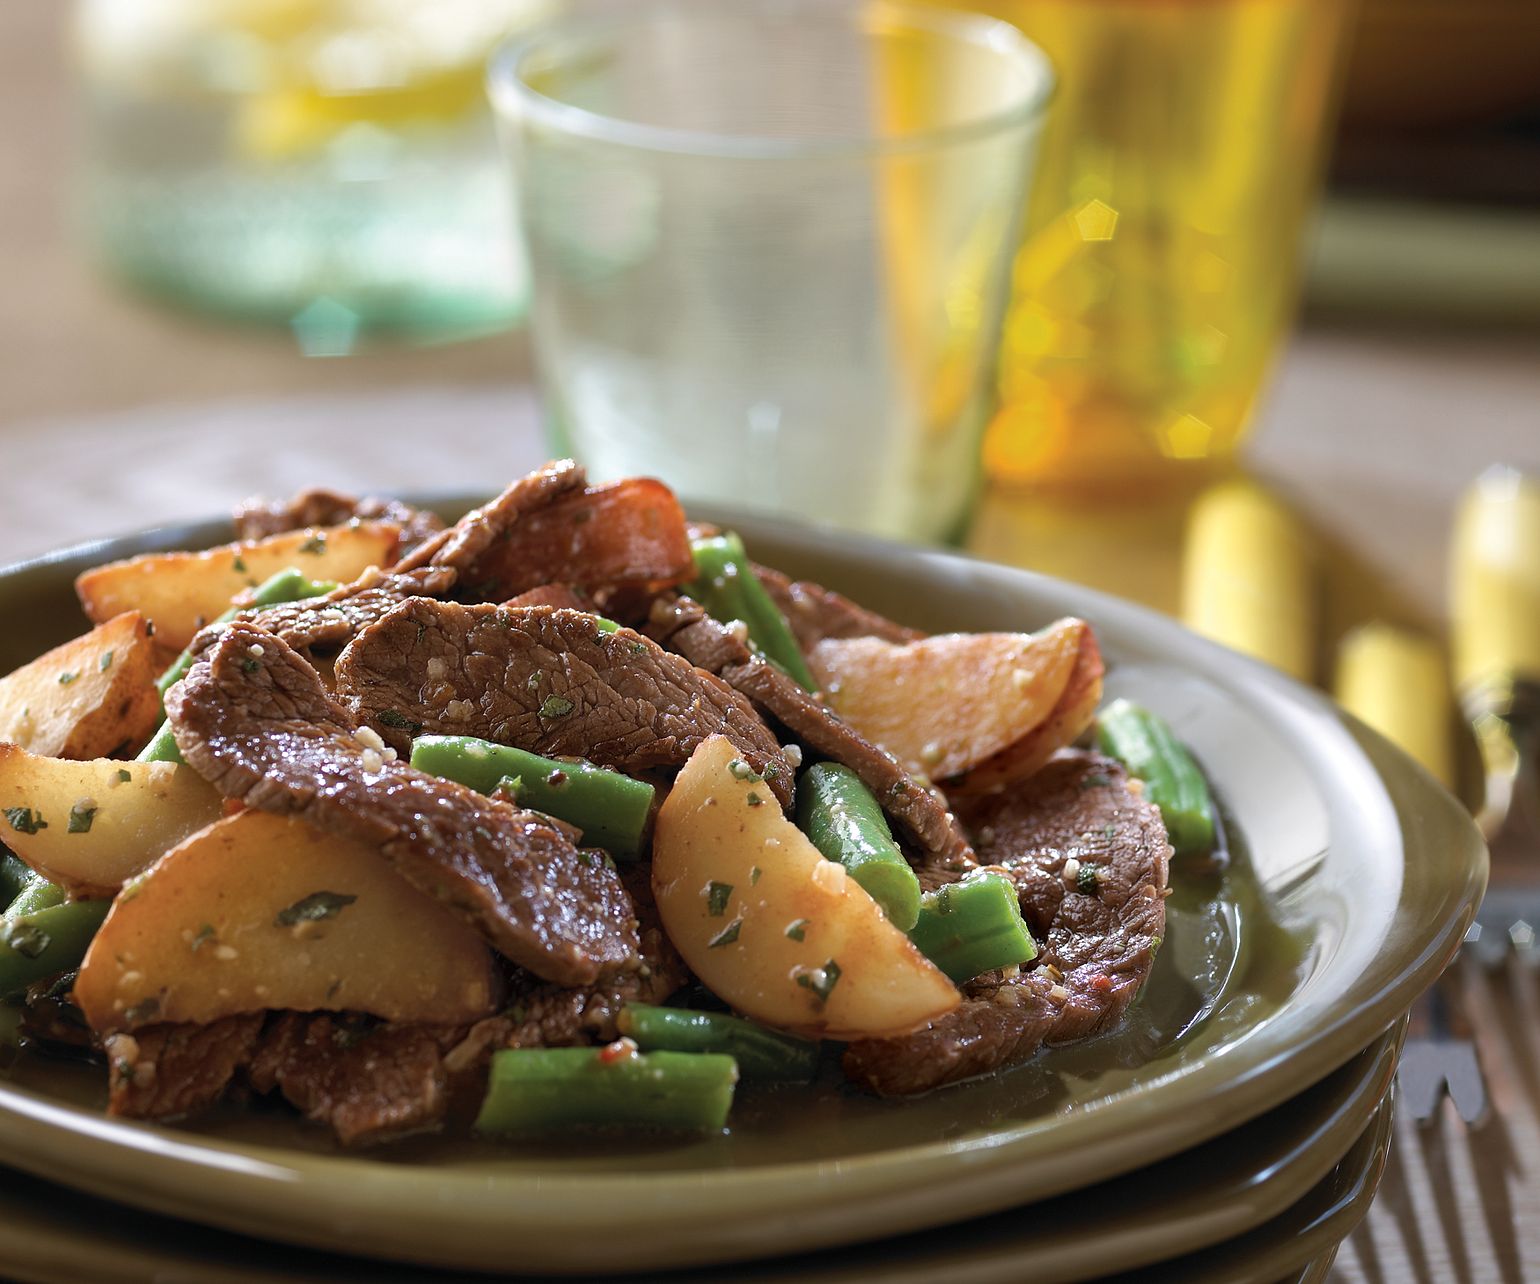
{"label": "long thin potato wedge at back left, highest on that side", "polygon": [[156,622],[159,640],[180,651],[242,590],[290,567],[311,579],[348,583],[370,567],[396,560],[399,536],[400,527],[393,522],[350,522],[222,543],[203,553],[146,553],[85,571],[75,593],[94,620],[142,611]]}

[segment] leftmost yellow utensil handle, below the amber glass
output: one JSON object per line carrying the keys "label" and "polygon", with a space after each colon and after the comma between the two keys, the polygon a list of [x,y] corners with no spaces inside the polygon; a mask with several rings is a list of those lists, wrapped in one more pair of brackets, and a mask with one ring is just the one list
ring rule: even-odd
{"label": "leftmost yellow utensil handle, below the amber glass", "polygon": [[1311,540],[1289,508],[1254,482],[1204,491],[1187,520],[1187,627],[1309,682],[1317,610]]}

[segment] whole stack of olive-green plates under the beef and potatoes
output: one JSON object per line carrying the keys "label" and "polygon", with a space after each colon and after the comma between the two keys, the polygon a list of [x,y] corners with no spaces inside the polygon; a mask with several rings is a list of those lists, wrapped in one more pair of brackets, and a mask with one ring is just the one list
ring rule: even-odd
{"label": "whole stack of olive-green plates under the beef and potatoes", "polygon": [[[1466,814],[1324,699],[1144,610],[946,554],[732,520],[762,560],[936,631],[1084,616],[1109,696],[1177,725],[1226,805],[1229,861],[1173,871],[1166,942],[1129,1019],[907,1102],[847,1092],[835,1073],[812,1093],[745,1093],[722,1138],[362,1155],[276,1110],[197,1130],[109,1121],[99,1073],[23,1062],[0,1082],[0,1147],[32,1176],[0,1179],[0,1269],[46,1281],[1324,1273],[1378,1181],[1401,1018],[1485,885]],[[0,670],[79,631],[69,583],[85,565],[223,537],[214,523],[162,531],[0,573],[14,622]]]}

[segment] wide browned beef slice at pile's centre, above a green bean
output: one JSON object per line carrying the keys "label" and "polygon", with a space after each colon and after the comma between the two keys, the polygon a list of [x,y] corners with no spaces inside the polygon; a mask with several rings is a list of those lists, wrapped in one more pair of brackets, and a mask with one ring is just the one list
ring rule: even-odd
{"label": "wide browned beef slice at pile's centre, above a green bean", "polygon": [[792,799],[792,770],[748,701],[582,611],[403,602],[337,657],[337,691],[397,748],[422,730],[634,773],[682,767],[719,733]]}

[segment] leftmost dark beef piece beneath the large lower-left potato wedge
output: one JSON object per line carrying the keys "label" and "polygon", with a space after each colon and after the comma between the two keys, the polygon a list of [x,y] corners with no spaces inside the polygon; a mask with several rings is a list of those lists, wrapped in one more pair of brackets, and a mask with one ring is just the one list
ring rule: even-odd
{"label": "leftmost dark beef piece beneath the large lower-left potato wedge", "polygon": [[263,1013],[208,1025],[145,1025],[106,1041],[108,1115],[180,1119],[217,1102],[246,1064]]}

